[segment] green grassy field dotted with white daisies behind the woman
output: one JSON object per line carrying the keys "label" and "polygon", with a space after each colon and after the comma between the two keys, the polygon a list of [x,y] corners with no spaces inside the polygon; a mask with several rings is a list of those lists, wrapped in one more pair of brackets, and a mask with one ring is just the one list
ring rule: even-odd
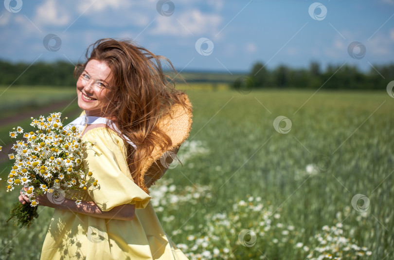
{"label": "green grassy field dotted with white daisies behind the woman", "polygon": [[[164,230],[190,259],[393,258],[393,98],[222,89],[187,91],[183,167],[151,188]],[[278,116],[288,133],[274,129]],[[39,208],[30,229],[5,224],[18,196],[5,192],[9,167],[0,165],[0,259],[38,259],[52,209]]]}

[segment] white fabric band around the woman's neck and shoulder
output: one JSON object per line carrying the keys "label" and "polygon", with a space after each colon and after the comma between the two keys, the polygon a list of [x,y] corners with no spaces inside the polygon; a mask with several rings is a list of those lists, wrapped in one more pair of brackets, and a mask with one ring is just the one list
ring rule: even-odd
{"label": "white fabric band around the woman's neck and shoulder", "polygon": [[127,143],[133,146],[134,149],[137,149],[137,146],[133,142],[131,142],[131,140],[128,139],[127,136],[121,133],[121,131],[118,129],[118,127],[115,125],[114,122],[104,117],[81,115],[80,117],[77,117],[75,120],[73,120],[70,124],[66,125],[64,129],[67,130],[71,126],[75,126],[78,130],[82,132],[86,125],[95,125],[95,124],[106,124],[117,134],[119,134],[119,136],[123,138]]}

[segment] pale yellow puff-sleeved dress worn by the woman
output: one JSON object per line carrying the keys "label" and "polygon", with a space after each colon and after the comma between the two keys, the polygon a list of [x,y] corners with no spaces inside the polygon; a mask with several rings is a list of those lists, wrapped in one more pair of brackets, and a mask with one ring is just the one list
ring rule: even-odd
{"label": "pale yellow puff-sleeved dress worn by the woman", "polygon": [[151,197],[132,181],[119,135],[98,127],[82,138],[94,144],[94,150],[87,149],[84,166],[99,188],[66,194],[66,198],[94,201],[103,211],[135,204],[135,217],[132,221],[102,219],[55,208],[41,260],[187,260],[161,227]]}

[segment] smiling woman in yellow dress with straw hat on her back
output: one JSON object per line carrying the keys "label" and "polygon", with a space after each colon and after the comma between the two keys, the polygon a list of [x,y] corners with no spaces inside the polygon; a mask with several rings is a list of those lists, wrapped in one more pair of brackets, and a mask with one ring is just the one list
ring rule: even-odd
{"label": "smiling woman in yellow dress with straw hat on her back", "polygon": [[[188,137],[192,106],[163,74],[162,60],[174,70],[165,57],[127,40],[90,47],[75,68],[84,112],[72,124],[94,144],[83,164],[99,185],[61,201],[37,198],[55,208],[41,259],[187,259],[163,231],[148,188],[166,169],[160,155]],[[29,200],[21,193],[19,201]]]}

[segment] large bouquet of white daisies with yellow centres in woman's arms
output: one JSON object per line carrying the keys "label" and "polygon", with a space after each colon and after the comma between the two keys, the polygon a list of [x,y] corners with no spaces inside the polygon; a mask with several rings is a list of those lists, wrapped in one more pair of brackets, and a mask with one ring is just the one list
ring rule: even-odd
{"label": "large bouquet of white daisies with yellow centres in woman's arms", "polygon": [[[46,195],[52,203],[60,204],[68,191],[97,186],[92,173],[86,173],[82,167],[87,142],[82,141],[80,131],[74,126],[63,128],[60,116],[58,112],[46,118],[32,117],[30,125],[36,130],[24,133],[18,127],[10,132],[11,138],[23,135],[24,140],[13,144],[15,152],[8,155],[15,163],[7,178],[7,191],[16,186],[27,187],[21,192],[30,200],[30,204],[13,204],[9,220],[14,219],[19,227],[29,227],[38,217],[36,196]],[[75,198],[75,203],[81,201]]]}

